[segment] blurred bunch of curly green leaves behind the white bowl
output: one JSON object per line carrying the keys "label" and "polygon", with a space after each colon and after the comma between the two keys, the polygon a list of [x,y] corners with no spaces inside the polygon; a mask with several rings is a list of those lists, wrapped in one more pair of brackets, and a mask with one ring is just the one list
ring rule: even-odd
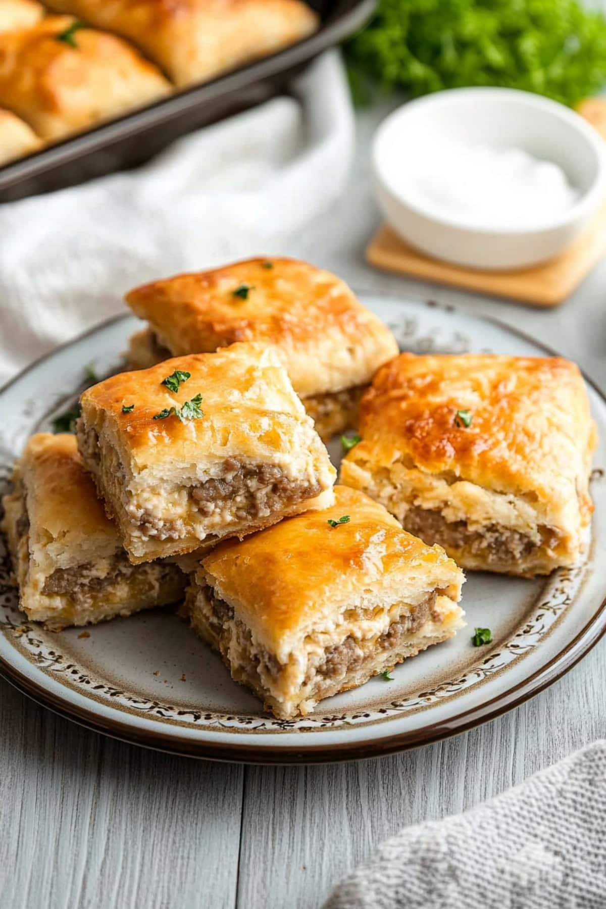
{"label": "blurred bunch of curly green leaves behind the white bowl", "polygon": [[606,20],[577,0],[380,0],[347,56],[354,89],[504,85],[574,106],[606,84]]}

